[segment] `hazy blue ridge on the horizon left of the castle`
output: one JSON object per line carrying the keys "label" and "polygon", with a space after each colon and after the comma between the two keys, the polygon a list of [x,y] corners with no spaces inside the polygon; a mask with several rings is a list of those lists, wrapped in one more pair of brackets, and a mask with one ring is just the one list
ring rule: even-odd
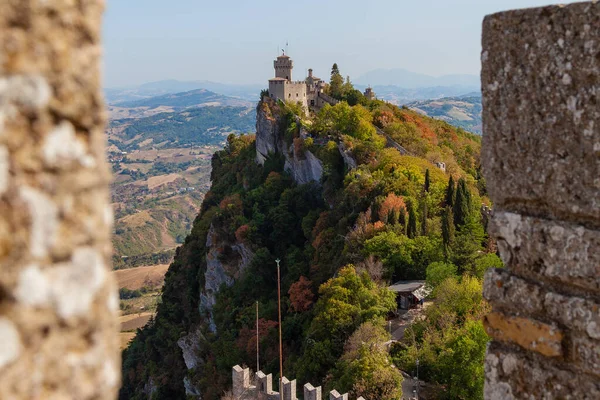
{"label": "hazy blue ridge on the horizon left of the castle", "polygon": [[142,85],[107,88],[104,90],[106,101],[111,105],[121,105],[125,102],[148,99],[171,93],[181,93],[196,89],[205,89],[221,95],[236,97],[242,100],[258,101],[257,93],[264,85],[234,85],[210,81],[178,81],[163,80]]}

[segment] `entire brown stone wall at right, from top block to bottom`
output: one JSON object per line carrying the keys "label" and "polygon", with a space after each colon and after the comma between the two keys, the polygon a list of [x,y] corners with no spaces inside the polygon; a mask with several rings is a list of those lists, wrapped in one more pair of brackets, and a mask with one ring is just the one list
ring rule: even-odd
{"label": "entire brown stone wall at right, from top block to bottom", "polygon": [[483,23],[486,399],[600,398],[600,4]]}

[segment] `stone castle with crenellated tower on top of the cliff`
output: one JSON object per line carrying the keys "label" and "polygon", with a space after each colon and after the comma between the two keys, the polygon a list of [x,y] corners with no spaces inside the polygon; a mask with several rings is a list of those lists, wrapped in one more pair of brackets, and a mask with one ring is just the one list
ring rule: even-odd
{"label": "stone castle with crenellated tower on top of the cliff", "polygon": [[[275,77],[269,79],[269,97],[275,100],[300,102],[305,110],[319,109],[325,104],[335,105],[338,100],[325,94],[323,89],[326,82],[313,75],[313,70],[308,70],[308,77],[303,81],[292,80],[292,69],[294,62],[283,52],[273,61]],[[365,90],[365,96],[369,99],[375,97],[375,93],[369,87]]]}

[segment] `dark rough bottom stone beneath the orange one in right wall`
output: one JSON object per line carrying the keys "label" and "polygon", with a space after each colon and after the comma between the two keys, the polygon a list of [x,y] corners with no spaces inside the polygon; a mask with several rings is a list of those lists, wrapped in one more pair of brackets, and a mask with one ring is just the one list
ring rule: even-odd
{"label": "dark rough bottom stone beneath the orange one in right wall", "polygon": [[592,400],[600,398],[600,380],[557,360],[491,344],[486,355],[484,398]]}

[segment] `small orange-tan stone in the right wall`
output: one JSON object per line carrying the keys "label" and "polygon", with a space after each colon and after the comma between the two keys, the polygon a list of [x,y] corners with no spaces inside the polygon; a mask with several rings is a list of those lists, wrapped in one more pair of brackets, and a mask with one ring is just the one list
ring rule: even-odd
{"label": "small orange-tan stone in the right wall", "polygon": [[514,343],[548,357],[557,357],[563,354],[562,339],[564,335],[554,325],[497,312],[487,314],[483,323],[488,335],[495,340]]}

